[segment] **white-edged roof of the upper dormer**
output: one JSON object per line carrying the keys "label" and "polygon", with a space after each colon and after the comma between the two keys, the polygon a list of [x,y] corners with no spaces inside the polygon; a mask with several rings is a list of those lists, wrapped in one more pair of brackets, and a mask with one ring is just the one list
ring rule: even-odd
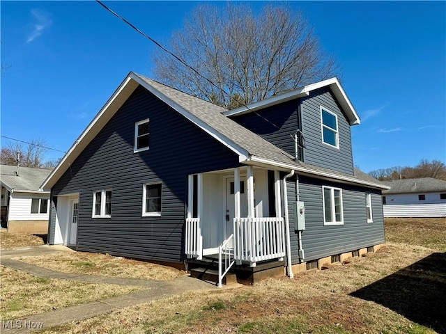
{"label": "white-edged roof of the upper dormer", "polygon": [[360,122],[361,122],[360,117],[357,115],[356,110],[353,107],[353,104],[351,104],[350,99],[348,99],[348,96],[346,95],[344,88],[342,88],[341,83],[339,82],[339,79],[337,79],[336,77],[327,79],[327,80],[323,80],[323,81],[319,81],[319,82],[316,82],[315,84],[296,88],[289,92],[269,97],[266,100],[261,100],[259,102],[254,102],[252,104],[248,104],[247,106],[240,106],[240,108],[237,108],[237,109],[224,111],[223,114],[225,116],[243,115],[244,113],[250,113],[252,111],[257,111],[257,110],[266,108],[268,106],[274,106],[275,104],[293,100],[298,97],[308,96],[312,90],[316,90],[316,89],[323,88],[323,87],[329,87],[332,90],[337,101],[339,102],[342,109],[346,113],[346,116],[348,117],[348,122],[350,123],[350,125],[360,124]]}

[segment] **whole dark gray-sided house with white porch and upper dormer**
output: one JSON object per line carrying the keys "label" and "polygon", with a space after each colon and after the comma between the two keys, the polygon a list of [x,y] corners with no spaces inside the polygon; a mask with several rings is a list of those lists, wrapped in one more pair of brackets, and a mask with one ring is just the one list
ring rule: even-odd
{"label": "whole dark gray-sided house with white porch and upper dormer", "polygon": [[[226,110],[130,72],[42,185],[49,244],[257,276],[383,244],[336,78]],[[285,270],[284,270],[285,269]]]}

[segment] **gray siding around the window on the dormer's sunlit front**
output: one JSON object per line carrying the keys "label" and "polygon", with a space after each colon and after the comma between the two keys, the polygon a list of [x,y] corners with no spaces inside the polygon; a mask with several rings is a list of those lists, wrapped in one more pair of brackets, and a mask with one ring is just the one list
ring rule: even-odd
{"label": "gray siding around the window on the dormer's sunlit front", "polygon": [[[339,149],[322,142],[321,106],[337,115]],[[330,88],[313,90],[302,98],[302,132],[305,136],[305,162],[353,175],[351,129]]]}

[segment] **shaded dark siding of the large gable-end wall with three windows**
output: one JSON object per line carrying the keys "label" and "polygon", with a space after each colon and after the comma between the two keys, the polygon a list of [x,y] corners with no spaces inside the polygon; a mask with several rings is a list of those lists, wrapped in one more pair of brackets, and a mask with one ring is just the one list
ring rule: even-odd
{"label": "shaded dark siding of the large gable-end wall with three windows", "polygon": [[[134,123],[146,118],[150,149],[134,153]],[[54,185],[52,196],[79,193],[78,250],[179,262],[187,175],[237,166],[236,154],[139,87]],[[147,182],[162,182],[161,217],[141,217]],[[112,189],[111,218],[91,218],[93,191],[101,189]]]}

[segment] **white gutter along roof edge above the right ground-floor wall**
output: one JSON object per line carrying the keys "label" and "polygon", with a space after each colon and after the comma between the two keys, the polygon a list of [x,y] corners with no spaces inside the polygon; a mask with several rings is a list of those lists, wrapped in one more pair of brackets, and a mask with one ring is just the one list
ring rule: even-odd
{"label": "white gutter along roof edge above the right ground-floor wall", "polygon": [[316,175],[316,176],[319,176],[319,178],[328,179],[328,180],[340,182],[340,183],[362,184],[365,186],[371,186],[376,189],[390,189],[390,186],[385,186],[384,184],[376,184],[374,182],[357,180],[355,177],[348,177],[348,176],[343,176],[343,175],[326,173],[326,172],[322,172],[319,170],[312,170],[310,168],[305,168],[305,167],[293,165],[293,164],[284,164],[282,162],[269,160],[269,159],[265,159],[265,158],[260,158],[260,157],[255,157],[255,156],[249,157],[249,160],[244,161],[244,162],[245,162],[245,164],[250,164],[250,163],[252,164],[253,162],[258,163],[258,164],[265,164],[267,166],[275,166],[275,167],[279,167],[279,168],[284,168],[284,170],[294,169],[294,170],[296,170],[296,172],[300,172],[302,174],[307,174],[312,177],[314,177]]}

